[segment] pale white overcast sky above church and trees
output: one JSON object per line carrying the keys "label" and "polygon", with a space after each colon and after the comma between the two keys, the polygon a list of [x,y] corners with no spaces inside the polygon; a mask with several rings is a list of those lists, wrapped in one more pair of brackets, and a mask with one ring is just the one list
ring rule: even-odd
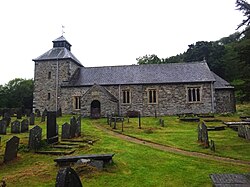
{"label": "pale white overcast sky above church and trees", "polygon": [[62,35],[85,67],[136,64],[236,32],[236,0],[8,0],[0,2],[0,85],[34,78],[34,62]]}

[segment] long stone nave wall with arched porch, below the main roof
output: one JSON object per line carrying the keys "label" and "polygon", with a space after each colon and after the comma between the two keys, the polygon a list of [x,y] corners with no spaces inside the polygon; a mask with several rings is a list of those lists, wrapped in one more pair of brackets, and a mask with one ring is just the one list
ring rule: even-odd
{"label": "long stone nave wall with arched porch, below the main roof", "polygon": [[[201,87],[201,101],[189,103],[187,101],[187,86]],[[129,110],[141,111],[142,116],[172,115],[180,113],[210,113],[213,112],[212,92],[210,83],[202,84],[166,84],[166,85],[121,85],[105,86],[112,95],[118,100],[120,106],[109,100],[108,96],[98,90],[90,90],[91,87],[62,88],[61,107],[64,113],[82,113],[89,116],[91,111],[91,102],[98,100],[101,103],[101,115],[107,113],[126,114]],[[148,89],[156,89],[158,101],[156,104],[148,103]],[[131,103],[123,104],[123,90],[130,90]],[[120,94],[119,94],[120,91]],[[87,93],[87,94],[86,94]],[[81,111],[73,110],[73,97],[81,96]]]}

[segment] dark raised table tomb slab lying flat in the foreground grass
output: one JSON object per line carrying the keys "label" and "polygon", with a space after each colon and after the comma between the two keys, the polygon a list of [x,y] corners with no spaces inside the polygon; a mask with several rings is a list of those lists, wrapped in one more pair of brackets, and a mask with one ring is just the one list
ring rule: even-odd
{"label": "dark raised table tomb slab lying flat in the foreground grass", "polygon": [[71,163],[75,163],[80,159],[90,159],[90,160],[98,160],[103,161],[103,164],[109,164],[112,163],[112,158],[115,154],[91,154],[91,155],[81,155],[81,156],[70,156],[70,157],[60,157],[54,159],[54,161],[59,166],[66,166],[70,165]]}

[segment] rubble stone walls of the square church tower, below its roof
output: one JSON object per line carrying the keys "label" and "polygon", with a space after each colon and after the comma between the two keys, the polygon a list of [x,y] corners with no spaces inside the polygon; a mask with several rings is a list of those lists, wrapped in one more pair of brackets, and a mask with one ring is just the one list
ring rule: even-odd
{"label": "rubble stone walls of the square church tower, below its roof", "polygon": [[[57,61],[39,61],[35,62],[34,74],[34,110],[43,111],[56,110],[59,108],[59,99],[61,94],[60,85],[63,81],[68,81],[74,71],[78,68],[71,60],[58,60],[58,106],[56,107],[56,76],[57,76]],[[49,72],[51,77],[49,78]],[[50,99],[48,99],[50,93]]]}

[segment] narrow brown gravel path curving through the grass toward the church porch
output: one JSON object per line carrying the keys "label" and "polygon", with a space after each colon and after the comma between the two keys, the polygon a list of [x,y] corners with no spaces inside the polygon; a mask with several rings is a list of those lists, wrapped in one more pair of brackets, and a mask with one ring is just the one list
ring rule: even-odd
{"label": "narrow brown gravel path curving through the grass toward the church porch", "polygon": [[145,146],[152,147],[152,148],[155,148],[158,150],[162,150],[162,151],[166,151],[166,152],[170,152],[170,153],[175,153],[175,154],[181,154],[181,155],[185,155],[185,156],[192,156],[192,157],[204,158],[204,159],[208,159],[208,160],[215,160],[218,162],[226,162],[226,163],[231,163],[231,164],[236,164],[236,165],[249,165],[250,166],[250,161],[236,160],[236,159],[232,159],[232,158],[219,157],[219,156],[208,155],[208,154],[204,154],[204,153],[185,151],[185,150],[178,149],[175,147],[161,145],[161,144],[158,144],[155,142],[142,140],[142,139],[139,139],[136,137],[117,133],[117,132],[109,130],[105,127],[101,127],[101,126],[97,126],[97,125],[96,125],[96,127],[98,129],[100,129],[100,130],[102,130],[102,131],[104,131],[112,136],[120,138],[122,140],[126,140],[126,141],[133,142],[136,144],[145,145]]}

